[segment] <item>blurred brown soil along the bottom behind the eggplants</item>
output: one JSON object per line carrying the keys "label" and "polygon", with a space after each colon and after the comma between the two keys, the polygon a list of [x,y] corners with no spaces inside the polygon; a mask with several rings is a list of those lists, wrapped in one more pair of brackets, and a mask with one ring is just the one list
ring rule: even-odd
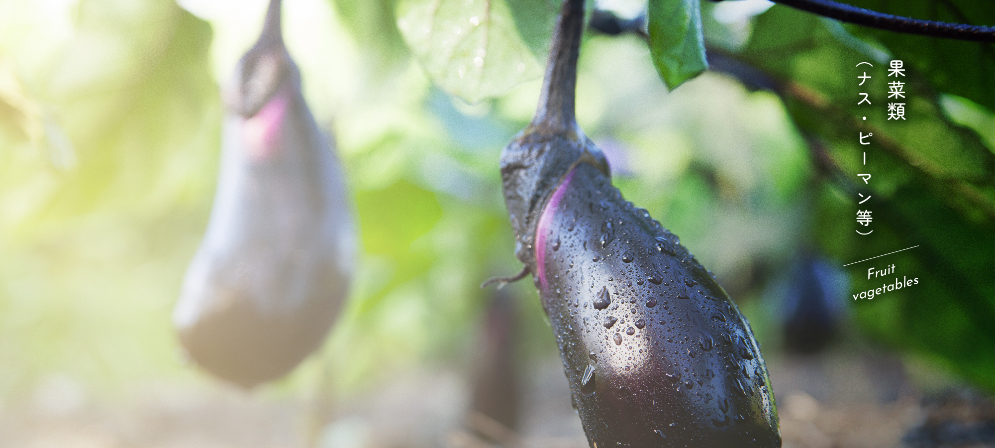
{"label": "blurred brown soil along the bottom behind the eggplants", "polygon": [[[902,438],[931,412],[922,405],[923,394],[909,385],[902,363],[888,355],[774,357],[768,367],[786,448],[909,446]],[[587,447],[558,359],[530,370],[522,423],[504,440],[518,448]],[[0,448],[498,446],[467,429],[469,387],[463,377],[445,370],[398,376],[376,390],[339,399],[328,412],[317,411],[311,399],[246,393],[211,381],[148,383],[102,404],[67,404],[73,391],[53,387],[23,404],[0,408]],[[926,439],[912,443],[986,446]]]}

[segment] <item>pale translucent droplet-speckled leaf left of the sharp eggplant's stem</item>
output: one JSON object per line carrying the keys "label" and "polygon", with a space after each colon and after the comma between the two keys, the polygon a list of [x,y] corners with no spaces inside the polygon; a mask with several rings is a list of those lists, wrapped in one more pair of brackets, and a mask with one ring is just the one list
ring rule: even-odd
{"label": "pale translucent droplet-speckled leaf left of the sharp eggplant's stem", "polygon": [[523,20],[514,14],[518,5],[509,3],[402,0],[397,24],[433,83],[477,103],[542,75],[534,48],[536,36],[548,31],[537,28],[551,23],[553,11],[533,4],[533,14]]}

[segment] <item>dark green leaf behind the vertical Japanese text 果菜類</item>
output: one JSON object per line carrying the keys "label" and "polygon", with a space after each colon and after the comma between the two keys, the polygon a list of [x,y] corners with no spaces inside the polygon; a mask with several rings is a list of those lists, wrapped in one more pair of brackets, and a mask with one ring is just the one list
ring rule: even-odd
{"label": "dark green leaf behind the vertical Japanese text \u679c\u83dc\u985e", "polygon": [[[896,100],[887,98],[886,68],[857,69],[868,55],[840,42],[824,25],[812,14],[774,6],[758,17],[751,42],[741,53],[744,60],[776,77],[785,91],[792,91],[788,107],[799,126],[838,141],[834,147],[853,150],[858,132],[874,132],[872,144],[862,151],[892,153],[910,165],[904,169],[927,173],[937,181],[957,179],[981,186],[995,179],[991,151],[976,132],[948,119],[934,88],[921,78],[914,81],[915,69],[905,72],[910,77],[905,86],[905,119],[888,119],[887,105]],[[863,73],[872,79],[862,87],[857,76]],[[871,105],[858,105],[861,92],[871,95]],[[860,168],[859,153],[841,160],[848,172],[856,174]]]}

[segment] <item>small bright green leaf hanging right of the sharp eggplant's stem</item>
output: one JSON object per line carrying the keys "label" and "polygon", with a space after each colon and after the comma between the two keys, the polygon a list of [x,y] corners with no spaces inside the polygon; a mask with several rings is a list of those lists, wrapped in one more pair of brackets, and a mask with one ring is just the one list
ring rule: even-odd
{"label": "small bright green leaf hanging right of the sharp eggplant's stem", "polygon": [[708,68],[698,0],[650,0],[650,53],[669,89]]}

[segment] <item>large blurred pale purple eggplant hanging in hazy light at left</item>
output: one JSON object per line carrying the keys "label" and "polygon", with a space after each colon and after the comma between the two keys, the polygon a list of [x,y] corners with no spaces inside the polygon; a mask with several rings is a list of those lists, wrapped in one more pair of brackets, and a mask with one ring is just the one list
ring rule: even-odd
{"label": "large blurred pale purple eggplant hanging in hazy light at left", "polygon": [[355,251],[341,168],[300,94],[280,9],[270,3],[226,94],[214,206],[173,315],[189,356],[245,387],[321,344]]}

